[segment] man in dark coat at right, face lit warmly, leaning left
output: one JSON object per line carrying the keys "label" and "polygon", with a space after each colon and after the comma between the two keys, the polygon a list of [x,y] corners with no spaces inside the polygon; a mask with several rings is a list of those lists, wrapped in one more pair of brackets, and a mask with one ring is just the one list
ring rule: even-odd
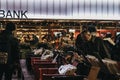
{"label": "man in dark coat at right, face lit warmly, leaning left", "polygon": [[[92,36],[88,30],[83,31],[82,35],[83,39],[86,41],[84,51],[86,54],[100,56],[102,59],[104,58],[110,59],[110,53],[108,49],[105,47],[105,44],[101,38]],[[96,52],[98,54],[96,54]]]}

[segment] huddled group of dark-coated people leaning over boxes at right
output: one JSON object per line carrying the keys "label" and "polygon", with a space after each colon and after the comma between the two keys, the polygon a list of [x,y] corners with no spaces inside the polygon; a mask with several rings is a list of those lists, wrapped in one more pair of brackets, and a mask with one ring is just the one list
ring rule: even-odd
{"label": "huddled group of dark-coated people leaning over boxes at right", "polygon": [[100,38],[96,36],[95,28],[88,28],[81,32],[76,39],[76,48],[82,50],[85,54],[97,56],[95,53],[97,52],[101,59],[113,59],[118,60],[116,56],[119,56],[119,51],[117,51],[120,46],[120,43],[117,39],[117,43],[112,40],[112,34],[107,33],[104,38]]}

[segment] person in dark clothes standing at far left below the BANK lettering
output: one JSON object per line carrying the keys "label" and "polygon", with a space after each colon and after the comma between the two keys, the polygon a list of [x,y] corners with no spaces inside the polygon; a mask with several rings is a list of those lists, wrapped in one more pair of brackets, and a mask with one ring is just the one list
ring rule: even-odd
{"label": "person in dark clothes standing at far left below the BANK lettering", "polygon": [[14,30],[15,24],[12,22],[8,22],[5,30],[0,33],[0,36],[4,37],[4,40],[7,40],[9,45],[6,47],[6,49],[8,50],[7,63],[0,64],[0,80],[2,80],[3,74],[5,76],[4,80],[12,80],[14,64],[19,63],[19,42],[12,33]]}

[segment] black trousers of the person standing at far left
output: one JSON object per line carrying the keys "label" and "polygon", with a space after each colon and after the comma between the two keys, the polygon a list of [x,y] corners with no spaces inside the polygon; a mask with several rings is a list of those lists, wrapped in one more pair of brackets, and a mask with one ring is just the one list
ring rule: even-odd
{"label": "black trousers of the person standing at far left", "polygon": [[0,64],[0,80],[12,80],[12,73],[14,71],[13,65]]}

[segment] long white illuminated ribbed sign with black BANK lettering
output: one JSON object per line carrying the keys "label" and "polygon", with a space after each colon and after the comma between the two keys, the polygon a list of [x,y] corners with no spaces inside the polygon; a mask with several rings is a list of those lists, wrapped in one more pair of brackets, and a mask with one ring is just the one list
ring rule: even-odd
{"label": "long white illuminated ribbed sign with black BANK lettering", "polygon": [[0,0],[0,18],[120,20],[120,0]]}

